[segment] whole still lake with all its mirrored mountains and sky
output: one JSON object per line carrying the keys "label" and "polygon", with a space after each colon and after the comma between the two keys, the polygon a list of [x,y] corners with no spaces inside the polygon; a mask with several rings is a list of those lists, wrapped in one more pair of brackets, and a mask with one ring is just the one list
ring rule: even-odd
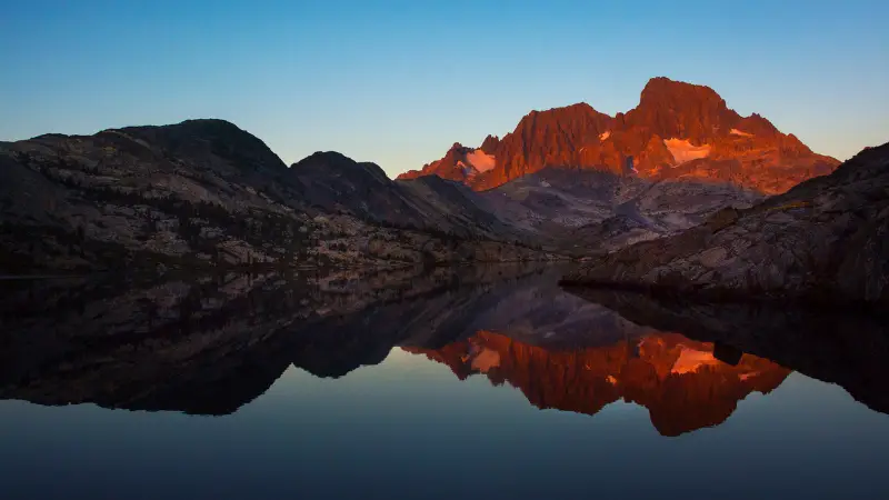
{"label": "whole still lake with all its mirrored mountains and sky", "polygon": [[557,279],[4,283],[0,498],[889,498],[879,320]]}

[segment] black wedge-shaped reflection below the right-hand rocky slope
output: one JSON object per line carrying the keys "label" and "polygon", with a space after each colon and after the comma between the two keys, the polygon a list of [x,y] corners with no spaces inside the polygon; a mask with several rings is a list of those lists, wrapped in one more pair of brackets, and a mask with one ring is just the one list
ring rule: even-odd
{"label": "black wedge-shaped reflection below the right-hand rocky slope", "polygon": [[841,386],[889,413],[889,318],[786,304],[707,304],[608,290],[569,289],[636,324],[716,342]]}

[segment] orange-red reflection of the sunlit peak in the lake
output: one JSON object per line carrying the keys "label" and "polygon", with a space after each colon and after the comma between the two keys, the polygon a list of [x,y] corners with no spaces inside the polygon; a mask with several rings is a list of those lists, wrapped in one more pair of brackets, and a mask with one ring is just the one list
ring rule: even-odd
{"label": "orange-red reflection of the sunlit peak in the lake", "polygon": [[550,351],[480,331],[439,350],[403,348],[444,363],[460,380],[482,373],[509,382],[531,404],[595,414],[623,399],[648,408],[663,436],[679,436],[723,422],[738,401],[768,393],[790,370],[742,354],[732,366],[713,356],[713,344],[678,333],[651,333],[601,348]]}

